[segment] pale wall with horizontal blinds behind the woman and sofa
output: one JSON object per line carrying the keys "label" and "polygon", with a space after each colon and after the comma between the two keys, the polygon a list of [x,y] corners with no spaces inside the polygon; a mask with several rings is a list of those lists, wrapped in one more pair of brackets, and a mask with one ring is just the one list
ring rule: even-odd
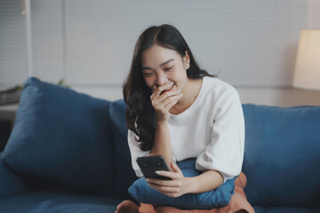
{"label": "pale wall with horizontal blinds behind the woman and sofa", "polygon": [[[320,105],[319,91],[291,88],[300,29],[320,28],[320,1],[169,2],[31,0],[34,75],[52,83],[64,78],[76,91],[98,98],[121,99],[140,32],[172,23],[199,64],[220,70],[244,103]],[[21,83],[28,70],[24,17],[17,14],[21,1],[0,3],[1,88]]]}

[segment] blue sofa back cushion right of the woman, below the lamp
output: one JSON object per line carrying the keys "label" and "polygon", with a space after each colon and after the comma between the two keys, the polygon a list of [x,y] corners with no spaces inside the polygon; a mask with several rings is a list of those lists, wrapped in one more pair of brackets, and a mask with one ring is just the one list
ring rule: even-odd
{"label": "blue sofa back cushion right of the woman, below the lamp", "polygon": [[244,105],[245,193],[252,205],[320,201],[320,107]]}

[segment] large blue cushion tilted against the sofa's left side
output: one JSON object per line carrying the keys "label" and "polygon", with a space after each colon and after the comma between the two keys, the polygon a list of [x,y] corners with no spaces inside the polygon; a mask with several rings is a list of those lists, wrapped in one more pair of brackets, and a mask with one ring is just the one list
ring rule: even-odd
{"label": "large blue cushion tilted against the sofa's left side", "polygon": [[85,193],[112,194],[114,146],[109,104],[29,78],[1,160],[23,175]]}

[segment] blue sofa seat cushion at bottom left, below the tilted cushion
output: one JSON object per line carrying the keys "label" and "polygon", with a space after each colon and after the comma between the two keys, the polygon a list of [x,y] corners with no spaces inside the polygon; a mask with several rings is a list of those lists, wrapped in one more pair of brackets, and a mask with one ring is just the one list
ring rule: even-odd
{"label": "blue sofa seat cushion at bottom left, below the tilted cushion", "polygon": [[39,191],[0,200],[5,213],[106,213],[115,212],[121,200],[59,191]]}

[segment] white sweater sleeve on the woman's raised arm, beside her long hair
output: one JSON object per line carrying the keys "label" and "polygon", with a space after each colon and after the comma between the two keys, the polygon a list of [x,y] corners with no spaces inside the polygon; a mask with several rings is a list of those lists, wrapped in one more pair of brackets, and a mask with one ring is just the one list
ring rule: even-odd
{"label": "white sweater sleeve on the woman's raised arm, beside her long hair", "polygon": [[138,157],[148,156],[150,151],[142,151],[139,147],[138,136],[132,131],[128,130],[128,144],[130,153],[132,155],[132,169],[135,171],[137,177],[143,177],[140,167],[137,163]]}

